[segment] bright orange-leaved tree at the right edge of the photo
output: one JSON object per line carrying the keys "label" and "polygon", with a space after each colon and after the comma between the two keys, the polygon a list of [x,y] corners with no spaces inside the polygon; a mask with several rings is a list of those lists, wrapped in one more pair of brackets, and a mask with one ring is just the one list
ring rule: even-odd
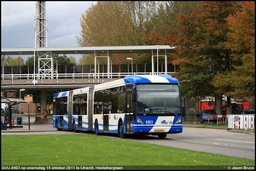
{"label": "bright orange-leaved tree at the right edge of the photo", "polygon": [[[238,99],[255,97],[255,3],[244,2],[241,11],[226,19],[230,32],[226,46],[231,49],[230,59],[237,62],[234,70],[214,77],[218,93]],[[225,85],[224,85],[225,84]],[[225,89],[222,87],[233,87]]]}

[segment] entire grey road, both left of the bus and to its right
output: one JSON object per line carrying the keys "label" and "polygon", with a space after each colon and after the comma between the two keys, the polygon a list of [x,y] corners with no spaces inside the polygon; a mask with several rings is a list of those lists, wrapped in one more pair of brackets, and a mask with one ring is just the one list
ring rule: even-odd
{"label": "entire grey road, both left of the bus and to its right", "polygon": [[[51,124],[34,123],[35,116],[22,117],[23,128],[7,128],[5,134],[87,134],[73,131],[57,131]],[[96,135],[95,135],[96,136]],[[120,139],[116,135],[102,135]],[[181,149],[204,151],[230,157],[241,157],[255,160],[255,135],[231,132],[226,129],[192,128],[185,126],[182,134],[168,134],[166,139],[157,136],[130,136],[126,140],[134,140],[155,145],[166,145]]]}

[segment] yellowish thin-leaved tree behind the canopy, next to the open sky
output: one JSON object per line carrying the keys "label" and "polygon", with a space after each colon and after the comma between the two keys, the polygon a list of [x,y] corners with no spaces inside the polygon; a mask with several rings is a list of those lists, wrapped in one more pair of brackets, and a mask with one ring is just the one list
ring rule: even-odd
{"label": "yellowish thin-leaved tree behind the canopy, next to the open sky", "polygon": [[[155,13],[155,2],[98,2],[81,17],[80,46],[142,45],[142,34],[150,31],[150,20]],[[112,64],[124,62],[131,54],[115,54]],[[106,59],[102,59],[106,63]],[[139,61],[139,60],[137,60]],[[149,60],[150,61],[150,60]],[[80,61],[94,64],[93,55],[84,55]]]}

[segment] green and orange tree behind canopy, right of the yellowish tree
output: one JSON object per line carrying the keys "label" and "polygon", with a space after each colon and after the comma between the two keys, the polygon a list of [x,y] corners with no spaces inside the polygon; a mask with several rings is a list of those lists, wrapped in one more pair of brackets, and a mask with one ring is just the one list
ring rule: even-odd
{"label": "green and orange tree behind canopy, right of the yellowish tree", "polygon": [[[143,44],[148,45],[170,45],[175,46],[176,33],[175,27],[177,27],[178,14],[190,14],[199,2],[180,2],[180,1],[160,1],[155,7],[157,12],[154,14],[151,23],[151,31],[145,31],[142,35]],[[151,62],[151,57],[140,55],[140,61],[145,63]],[[164,61],[160,61],[160,63]],[[167,63],[177,65],[173,63],[171,54],[168,54]]]}

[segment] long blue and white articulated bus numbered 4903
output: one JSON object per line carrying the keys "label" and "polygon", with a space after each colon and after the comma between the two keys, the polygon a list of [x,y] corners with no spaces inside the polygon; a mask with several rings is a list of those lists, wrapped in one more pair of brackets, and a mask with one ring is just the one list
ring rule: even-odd
{"label": "long blue and white articulated bus numbered 4903", "polygon": [[[163,106],[166,99],[168,106]],[[53,127],[99,134],[183,132],[181,89],[170,75],[128,75],[53,95]]]}

